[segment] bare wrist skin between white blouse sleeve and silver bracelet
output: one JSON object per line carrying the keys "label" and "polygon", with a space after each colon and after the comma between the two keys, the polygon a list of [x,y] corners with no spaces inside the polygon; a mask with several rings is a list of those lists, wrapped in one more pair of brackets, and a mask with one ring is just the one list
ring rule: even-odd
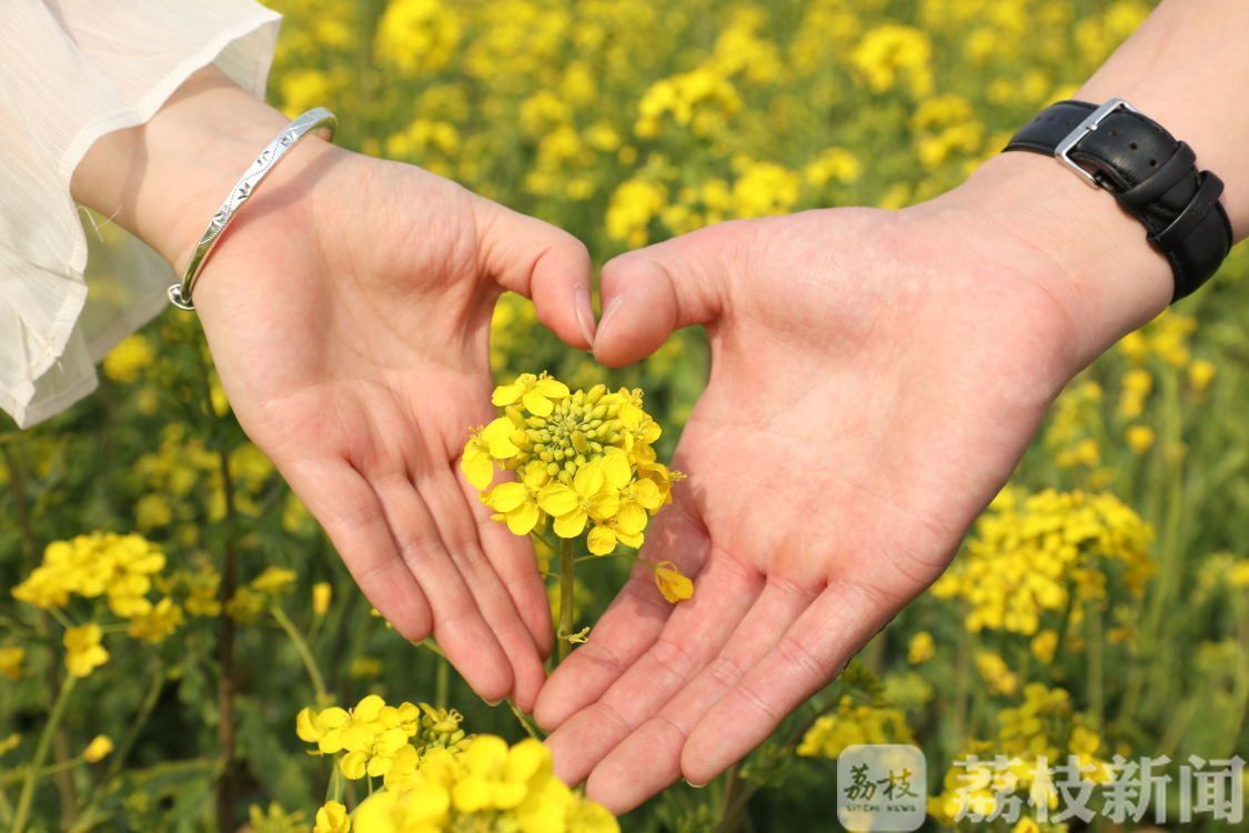
{"label": "bare wrist skin between white blouse sleeve and silver bracelet", "polygon": [[[146,124],[101,136],[74,171],[71,191],[79,204],[112,217],[181,271],[212,212],[286,124],[281,112],[209,66]],[[264,191],[299,176],[331,147],[306,137],[274,169]],[[255,204],[236,222],[249,214],[256,214]]]}

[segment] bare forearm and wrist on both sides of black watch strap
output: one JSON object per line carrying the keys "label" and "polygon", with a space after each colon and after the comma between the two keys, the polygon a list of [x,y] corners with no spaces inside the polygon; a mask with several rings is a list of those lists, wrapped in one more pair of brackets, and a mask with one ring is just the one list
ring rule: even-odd
{"label": "bare forearm and wrist on both sides of black watch strap", "polygon": [[[1249,2],[1165,0],[1080,89],[1077,99],[1122,97],[1197,151],[1225,184],[1223,205],[1239,241],[1249,234]],[[977,224],[1025,242],[1052,265],[1049,291],[1069,311],[1078,363],[1162,312],[1173,276],[1145,231],[1102,190],[1034,154],[989,160],[963,186],[921,211],[970,212]]]}

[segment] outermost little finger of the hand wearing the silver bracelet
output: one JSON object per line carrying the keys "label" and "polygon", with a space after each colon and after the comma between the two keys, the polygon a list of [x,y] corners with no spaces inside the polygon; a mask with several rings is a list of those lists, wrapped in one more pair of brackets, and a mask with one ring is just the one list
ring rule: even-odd
{"label": "outermost little finger of the hand wearing the silver bracelet", "polygon": [[377,612],[405,639],[430,636],[430,604],[400,557],[377,495],[360,472],[345,460],[290,461],[279,468]]}

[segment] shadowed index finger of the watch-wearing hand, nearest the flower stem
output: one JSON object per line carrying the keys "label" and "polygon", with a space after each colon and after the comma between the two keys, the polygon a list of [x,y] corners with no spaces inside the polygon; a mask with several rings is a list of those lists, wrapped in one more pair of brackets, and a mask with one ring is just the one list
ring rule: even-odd
{"label": "shadowed index finger of the watch-wearing hand, nearest the flower stem", "polygon": [[[708,547],[707,531],[679,501],[667,507],[656,520],[654,531],[647,533],[646,551],[667,553],[687,576],[697,574]],[[533,708],[537,724],[551,732],[598,699],[654,643],[671,614],[672,604],[654,586],[654,572],[637,564],[595,623],[590,641],[568,654],[542,687]]]}

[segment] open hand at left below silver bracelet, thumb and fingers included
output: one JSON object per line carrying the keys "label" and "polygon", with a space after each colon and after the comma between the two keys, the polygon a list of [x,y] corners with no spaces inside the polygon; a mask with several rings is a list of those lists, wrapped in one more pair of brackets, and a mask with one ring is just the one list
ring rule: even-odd
{"label": "open hand at left below silver bracelet, thumb and fingers included", "polygon": [[[455,463],[488,420],[496,297],[538,292],[545,320],[586,346],[558,307],[588,260],[446,180],[331,154],[259,192],[205,270],[222,383],[377,609],[410,639],[432,631],[483,697],[528,707],[551,641],[543,586]],[[546,300],[556,286],[563,305]]]}

